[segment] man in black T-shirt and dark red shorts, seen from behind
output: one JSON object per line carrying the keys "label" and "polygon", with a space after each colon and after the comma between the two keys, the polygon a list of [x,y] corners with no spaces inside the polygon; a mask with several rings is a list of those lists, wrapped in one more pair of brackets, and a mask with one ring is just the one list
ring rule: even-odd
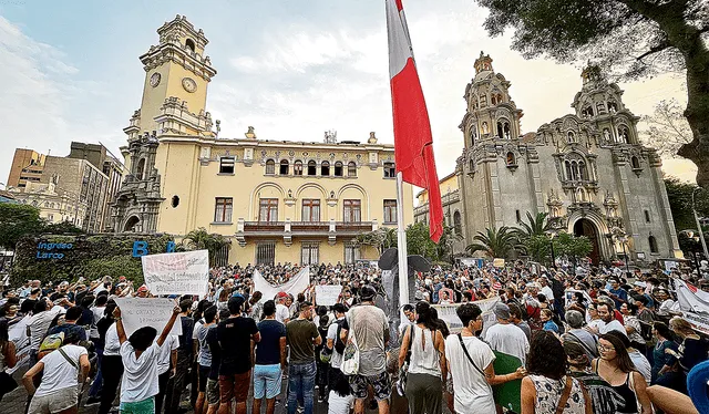
{"label": "man in black T-shirt and dark red shorts, seen from behind", "polygon": [[[253,343],[261,340],[256,322],[242,317],[244,297],[229,299],[229,319],[216,328],[220,346],[219,414],[232,412],[232,399],[236,400],[236,414],[246,414],[246,399],[251,383]],[[253,341],[253,342],[251,342]]]}

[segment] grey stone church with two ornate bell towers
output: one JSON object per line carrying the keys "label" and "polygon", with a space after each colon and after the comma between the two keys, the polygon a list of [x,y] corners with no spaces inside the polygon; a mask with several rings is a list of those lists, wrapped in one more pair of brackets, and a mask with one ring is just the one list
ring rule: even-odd
{"label": "grey stone church with two ornate bell towers", "polygon": [[[553,232],[592,240],[595,263],[625,255],[636,263],[681,257],[661,159],[640,144],[639,117],[617,84],[587,68],[574,113],[523,134],[511,82],[482,52],[474,69],[460,125],[463,154],[441,183],[446,222],[463,237],[454,251],[463,252],[485,228],[514,227],[527,213],[545,211]],[[427,201],[419,194],[418,221],[425,219]]]}

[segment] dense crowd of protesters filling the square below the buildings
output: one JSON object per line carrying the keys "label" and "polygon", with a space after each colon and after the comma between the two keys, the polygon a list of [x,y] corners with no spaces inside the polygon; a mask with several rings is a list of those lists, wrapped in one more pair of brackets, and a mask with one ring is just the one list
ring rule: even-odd
{"label": "dense crowd of protesters filling the square below the buildings", "polygon": [[[415,300],[400,307],[392,327],[381,304],[391,300],[384,276],[369,262],[311,266],[305,291],[274,298],[253,281],[255,270],[280,284],[301,269],[213,268],[204,297],[171,297],[175,309],[161,332],[130,334],[115,299],[153,297],[145,284],[103,277],[6,287],[0,399],[18,386],[6,370],[27,363],[29,413],[97,405],[106,414],[116,396],[121,413],[226,414],[233,405],[246,413],[249,395],[255,413],[277,404],[312,413],[316,401],[332,414],[368,406],[492,413],[501,404],[494,390],[514,382],[518,406],[503,411],[697,412],[687,375],[708,359],[709,344],[681,317],[670,279],[709,292],[705,275],[588,263],[434,266],[417,275]],[[337,303],[318,306],[318,284],[342,286]],[[459,332],[439,318],[442,307],[454,308]],[[171,334],[174,323],[182,334]],[[25,330],[28,352],[10,338],[14,327]],[[496,372],[496,361],[513,368]]]}

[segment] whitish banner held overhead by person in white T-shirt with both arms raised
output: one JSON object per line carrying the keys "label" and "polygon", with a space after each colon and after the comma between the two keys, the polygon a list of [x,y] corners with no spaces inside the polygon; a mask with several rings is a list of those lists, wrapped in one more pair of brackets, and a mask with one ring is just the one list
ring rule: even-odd
{"label": "whitish banner held overhead by person in white T-shirt with both arms raised", "polygon": [[[177,303],[172,299],[157,298],[115,298],[115,303],[121,308],[121,320],[125,329],[125,335],[131,337],[138,328],[153,327],[160,335],[165,329],[173,309]],[[175,321],[173,335],[182,334],[182,323]]]}

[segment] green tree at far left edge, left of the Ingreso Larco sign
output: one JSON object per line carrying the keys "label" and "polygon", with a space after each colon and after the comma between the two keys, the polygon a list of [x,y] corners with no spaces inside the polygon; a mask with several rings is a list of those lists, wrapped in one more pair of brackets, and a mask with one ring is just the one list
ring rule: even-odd
{"label": "green tree at far left edge, left of the Ingreso Larco sign", "polygon": [[40,210],[25,204],[0,203],[0,246],[14,249],[27,235],[41,231]]}

